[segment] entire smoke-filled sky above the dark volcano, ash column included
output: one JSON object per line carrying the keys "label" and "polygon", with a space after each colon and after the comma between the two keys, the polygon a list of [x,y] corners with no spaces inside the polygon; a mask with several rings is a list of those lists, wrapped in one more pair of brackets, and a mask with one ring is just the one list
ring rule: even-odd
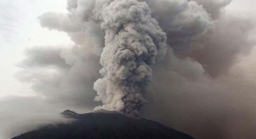
{"label": "entire smoke-filled sky above the dark volcano, ash column included", "polygon": [[1,0],[0,139],[95,108],[197,139],[256,138],[255,5]]}

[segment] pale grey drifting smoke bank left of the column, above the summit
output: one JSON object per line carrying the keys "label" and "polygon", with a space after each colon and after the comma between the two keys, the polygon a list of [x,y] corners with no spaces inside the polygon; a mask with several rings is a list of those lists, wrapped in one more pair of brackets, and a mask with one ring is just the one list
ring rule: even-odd
{"label": "pale grey drifting smoke bank left of the column, above the summit", "polygon": [[52,103],[93,108],[96,106],[93,82],[100,77],[97,71],[100,64],[95,54],[82,49],[77,46],[69,49],[58,46],[27,49],[26,58],[18,64],[23,70],[15,76],[21,82],[31,83],[32,89]]}

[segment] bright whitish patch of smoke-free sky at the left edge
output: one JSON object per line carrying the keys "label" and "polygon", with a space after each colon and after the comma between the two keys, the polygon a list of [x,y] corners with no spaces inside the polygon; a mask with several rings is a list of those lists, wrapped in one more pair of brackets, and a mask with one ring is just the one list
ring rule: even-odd
{"label": "bright whitish patch of smoke-free sky at the left edge", "polygon": [[[67,12],[63,0],[1,0],[0,2],[0,97],[35,95],[28,84],[13,77],[23,51],[35,45],[68,45],[63,32],[42,29],[37,17],[44,12]],[[58,36],[58,37],[56,37]]]}

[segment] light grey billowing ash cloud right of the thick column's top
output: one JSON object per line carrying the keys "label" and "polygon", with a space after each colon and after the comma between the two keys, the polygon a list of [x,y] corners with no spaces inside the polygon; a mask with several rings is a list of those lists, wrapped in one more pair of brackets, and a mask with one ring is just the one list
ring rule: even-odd
{"label": "light grey billowing ash cloud right of the thick column's top", "polygon": [[214,22],[202,5],[186,0],[148,0],[153,18],[169,43],[195,39],[214,30]]}

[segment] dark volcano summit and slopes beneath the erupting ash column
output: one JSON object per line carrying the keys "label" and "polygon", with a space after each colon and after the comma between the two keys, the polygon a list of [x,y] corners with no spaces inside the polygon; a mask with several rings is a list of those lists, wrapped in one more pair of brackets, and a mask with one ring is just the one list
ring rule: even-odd
{"label": "dark volcano summit and slopes beneath the erupting ash column", "polygon": [[118,112],[101,109],[77,114],[65,110],[61,114],[76,120],[47,125],[12,139],[194,139],[155,121],[133,119]]}

